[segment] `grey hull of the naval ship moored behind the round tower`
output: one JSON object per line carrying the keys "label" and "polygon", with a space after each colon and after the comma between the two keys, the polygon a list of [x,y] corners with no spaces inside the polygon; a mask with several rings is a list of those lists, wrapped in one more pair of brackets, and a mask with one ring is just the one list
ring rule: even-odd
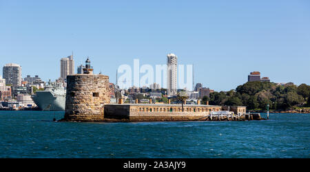
{"label": "grey hull of the naval ship moored behind the round tower", "polygon": [[54,96],[50,91],[40,91],[32,96],[32,100],[41,111],[65,110],[65,95]]}

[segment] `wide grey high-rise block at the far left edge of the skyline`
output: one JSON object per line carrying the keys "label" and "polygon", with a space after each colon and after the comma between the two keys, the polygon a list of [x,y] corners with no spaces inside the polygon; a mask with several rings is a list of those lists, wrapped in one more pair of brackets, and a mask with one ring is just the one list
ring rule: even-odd
{"label": "wide grey high-rise block at the far left edge of the skyline", "polygon": [[21,66],[8,63],[3,66],[3,78],[6,79],[7,85],[21,86]]}

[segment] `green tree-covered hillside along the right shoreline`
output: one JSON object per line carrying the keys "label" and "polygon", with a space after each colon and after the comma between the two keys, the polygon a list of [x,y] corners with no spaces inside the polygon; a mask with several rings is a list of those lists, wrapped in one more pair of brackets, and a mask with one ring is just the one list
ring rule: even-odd
{"label": "green tree-covered hillside along the right shoreline", "polygon": [[244,105],[247,109],[266,109],[269,104],[269,109],[290,109],[310,107],[309,96],[310,85],[277,85],[257,81],[239,85],[229,92],[213,92],[207,100],[209,105]]}

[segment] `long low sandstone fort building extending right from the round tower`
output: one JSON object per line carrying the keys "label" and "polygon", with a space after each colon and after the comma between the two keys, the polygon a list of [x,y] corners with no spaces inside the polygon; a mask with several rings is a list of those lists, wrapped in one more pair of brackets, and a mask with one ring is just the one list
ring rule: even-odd
{"label": "long low sandstone fort building extending right from the round tower", "polygon": [[[143,102],[143,100],[140,100]],[[147,100],[146,102],[147,103]],[[118,104],[105,105],[105,119],[122,121],[190,121],[207,120],[210,114],[227,114],[234,112],[237,116],[245,116],[247,107],[222,107],[214,105],[180,105],[180,104]],[[225,110],[225,111],[223,111]],[[232,113],[231,113],[232,114]]]}

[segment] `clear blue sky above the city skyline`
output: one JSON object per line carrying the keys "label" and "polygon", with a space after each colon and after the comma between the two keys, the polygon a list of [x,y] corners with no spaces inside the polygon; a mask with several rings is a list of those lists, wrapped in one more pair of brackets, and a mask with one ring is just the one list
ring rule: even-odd
{"label": "clear blue sky above the city skyline", "polygon": [[60,58],[90,56],[114,83],[121,64],[194,64],[195,83],[235,89],[249,72],[310,84],[310,1],[3,1],[0,74],[60,76]]}

